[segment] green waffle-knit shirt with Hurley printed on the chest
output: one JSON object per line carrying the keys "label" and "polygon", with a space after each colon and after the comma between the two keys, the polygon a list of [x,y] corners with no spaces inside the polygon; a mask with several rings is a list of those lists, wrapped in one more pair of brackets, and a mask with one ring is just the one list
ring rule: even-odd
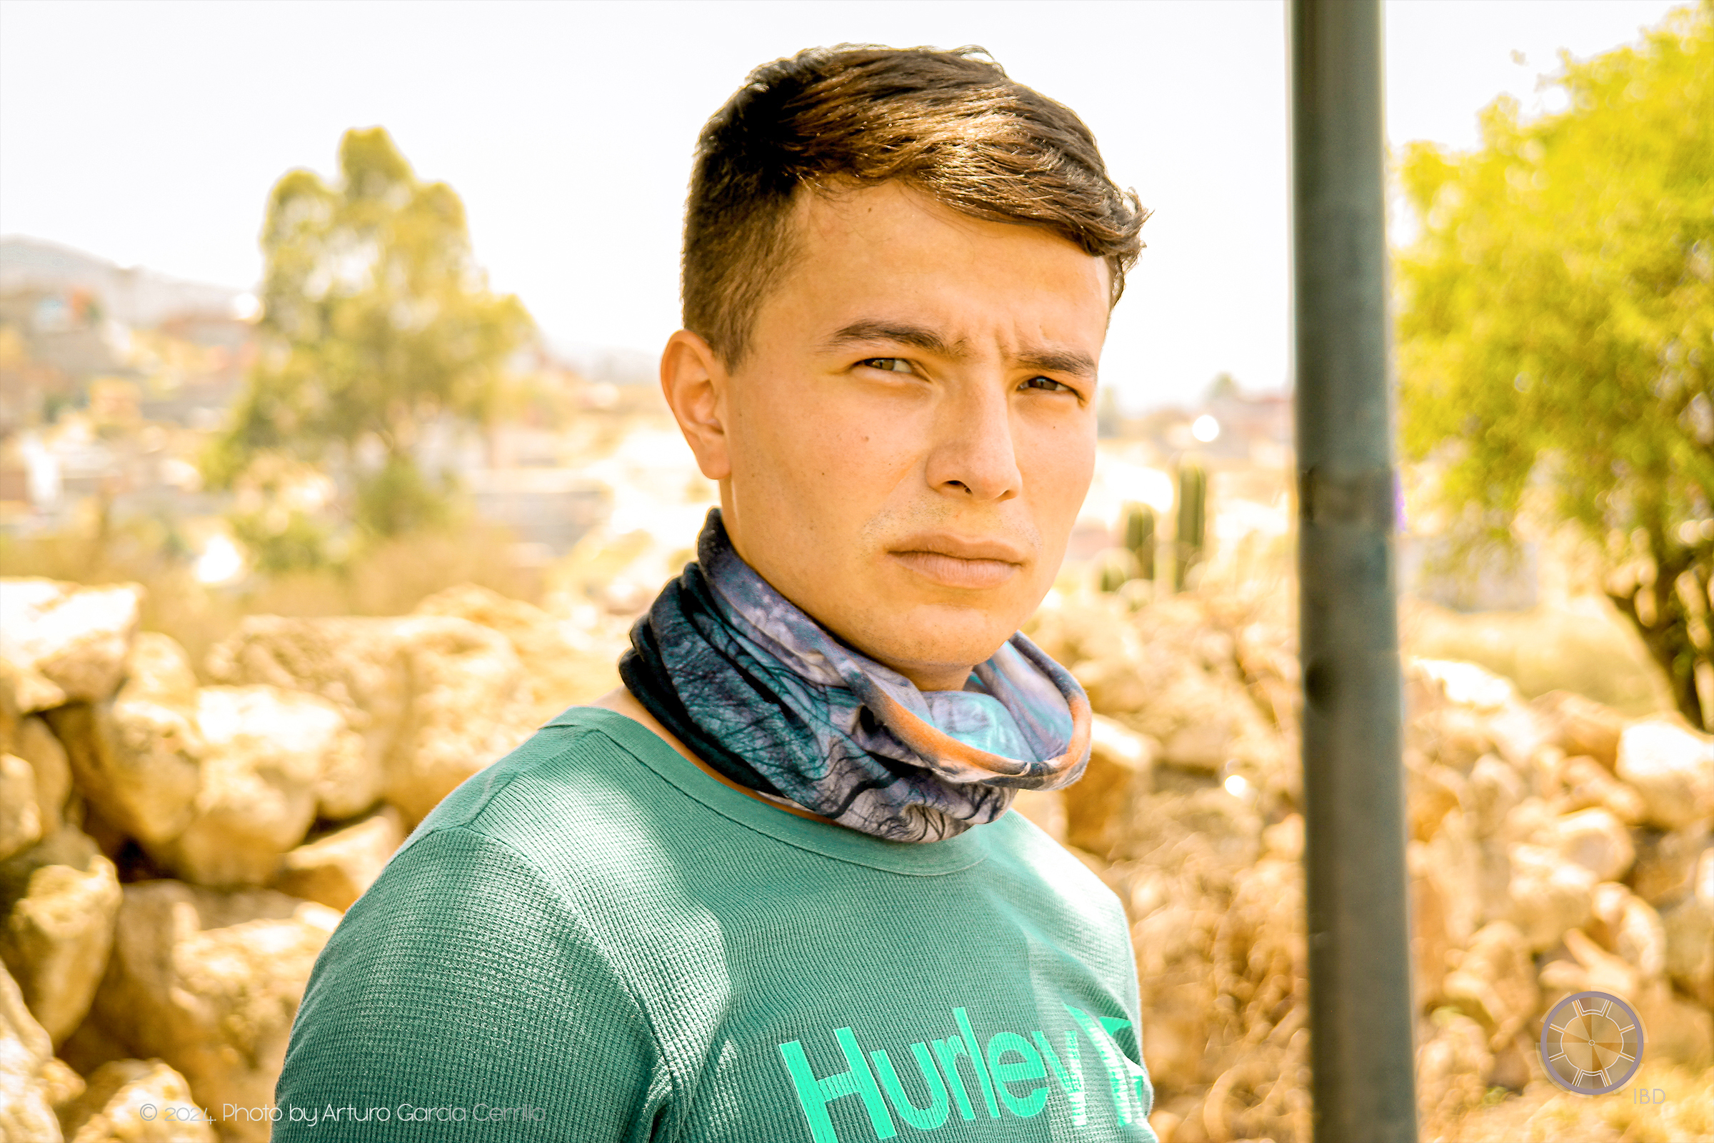
{"label": "green waffle-knit shirt with Hurley printed on the chest", "polygon": [[1155,1143],[1124,912],[1018,814],[900,843],[571,708],[310,975],[276,1143]]}

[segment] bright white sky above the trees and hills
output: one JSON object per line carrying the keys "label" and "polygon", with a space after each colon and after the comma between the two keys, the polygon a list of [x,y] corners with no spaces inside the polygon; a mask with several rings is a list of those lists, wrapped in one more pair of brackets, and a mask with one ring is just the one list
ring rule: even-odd
{"label": "bright white sky above the trees and hills", "polygon": [[[1387,0],[1393,144],[1476,142],[1539,106],[1558,50],[1637,39],[1668,0]],[[1227,370],[1286,384],[1279,0],[795,3],[0,2],[0,231],[249,286],[267,190],[384,125],[464,199],[476,255],[555,343],[658,353],[703,120],[764,60],[824,43],[979,43],[1095,130],[1155,216],[1102,379],[1131,408]],[[1522,63],[1513,60],[1522,53]]]}

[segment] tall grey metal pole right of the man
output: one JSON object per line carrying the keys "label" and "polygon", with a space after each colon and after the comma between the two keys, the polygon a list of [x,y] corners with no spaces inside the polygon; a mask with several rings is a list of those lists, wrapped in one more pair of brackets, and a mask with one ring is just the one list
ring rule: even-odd
{"label": "tall grey metal pole right of the man", "polygon": [[1380,0],[1291,0],[1315,1138],[1414,1143]]}

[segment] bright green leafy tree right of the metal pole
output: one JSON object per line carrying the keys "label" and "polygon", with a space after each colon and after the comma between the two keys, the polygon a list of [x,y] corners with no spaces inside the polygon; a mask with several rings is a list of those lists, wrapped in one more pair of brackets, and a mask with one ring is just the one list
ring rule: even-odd
{"label": "bright green leafy tree right of the metal pole", "polygon": [[[1714,2],[1637,48],[1561,55],[1567,110],[1412,144],[1399,257],[1404,449],[1467,531],[1580,524],[1693,725],[1714,725]],[[1699,697],[1699,680],[1702,691]]]}

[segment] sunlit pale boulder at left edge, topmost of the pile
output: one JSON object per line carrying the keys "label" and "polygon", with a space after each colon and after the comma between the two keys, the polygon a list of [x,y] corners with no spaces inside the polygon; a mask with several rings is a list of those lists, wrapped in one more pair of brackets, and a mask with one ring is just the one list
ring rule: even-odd
{"label": "sunlit pale boulder at left edge, topmost of the pile", "polygon": [[118,687],[137,632],[142,588],[0,579],[0,660],[14,668],[21,713],[98,703]]}

